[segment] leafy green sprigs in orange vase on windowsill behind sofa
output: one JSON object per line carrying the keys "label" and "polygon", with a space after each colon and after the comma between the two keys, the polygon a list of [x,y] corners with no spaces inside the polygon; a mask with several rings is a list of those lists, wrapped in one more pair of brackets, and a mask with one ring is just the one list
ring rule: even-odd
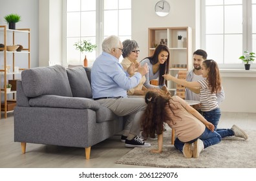
{"label": "leafy green sprigs in orange vase on windowsill behind sofa", "polygon": [[[80,50],[81,53],[83,52],[92,52],[93,50],[96,49],[96,45],[93,45],[90,41],[83,40],[83,41],[78,41],[74,44],[76,47],[76,50]],[[85,55],[85,59],[83,60],[83,66],[87,67],[88,66],[88,60]]]}

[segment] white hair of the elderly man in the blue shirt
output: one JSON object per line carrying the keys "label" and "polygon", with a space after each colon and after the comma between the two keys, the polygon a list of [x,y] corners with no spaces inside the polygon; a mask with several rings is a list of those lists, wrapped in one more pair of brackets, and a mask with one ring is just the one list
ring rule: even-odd
{"label": "white hair of the elderly man in the blue shirt", "polygon": [[120,47],[120,38],[118,36],[108,36],[102,42],[102,50],[103,52],[110,53],[111,48],[118,48]]}

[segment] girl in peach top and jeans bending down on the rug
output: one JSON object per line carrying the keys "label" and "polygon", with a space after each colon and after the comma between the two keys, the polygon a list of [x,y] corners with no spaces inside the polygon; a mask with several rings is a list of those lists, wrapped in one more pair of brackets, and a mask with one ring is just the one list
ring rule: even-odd
{"label": "girl in peach top and jeans bending down on the rug", "polygon": [[158,149],[152,149],[152,153],[162,153],[164,123],[175,129],[174,145],[186,158],[198,158],[206,147],[219,144],[221,137],[214,131],[214,125],[182,98],[149,91],[145,102],[142,129],[147,135],[158,134]]}

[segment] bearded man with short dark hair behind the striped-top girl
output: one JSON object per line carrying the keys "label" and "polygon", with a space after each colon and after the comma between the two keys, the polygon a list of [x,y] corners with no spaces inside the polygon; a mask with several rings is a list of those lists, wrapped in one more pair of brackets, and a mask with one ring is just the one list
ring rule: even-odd
{"label": "bearded man with short dark hair behind the striped-top girl", "polygon": [[[193,66],[194,69],[190,72],[187,72],[186,81],[198,81],[204,79],[202,77],[202,62],[207,59],[208,54],[204,50],[196,50],[193,53]],[[225,94],[223,87],[220,92],[217,92],[217,101],[220,105],[220,103],[224,100]],[[196,94],[193,92],[193,89],[186,88],[186,100],[195,100],[200,101],[200,94]],[[200,105],[193,106],[197,111],[200,112]]]}

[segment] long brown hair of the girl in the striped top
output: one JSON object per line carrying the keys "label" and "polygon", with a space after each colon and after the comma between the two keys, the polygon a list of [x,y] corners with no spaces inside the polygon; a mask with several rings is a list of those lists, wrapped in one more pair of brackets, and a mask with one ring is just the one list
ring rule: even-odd
{"label": "long brown hair of the girl in the striped top", "polygon": [[206,59],[202,64],[206,69],[209,69],[207,80],[209,87],[211,87],[211,94],[219,92],[221,90],[221,80],[218,64],[213,59]]}

